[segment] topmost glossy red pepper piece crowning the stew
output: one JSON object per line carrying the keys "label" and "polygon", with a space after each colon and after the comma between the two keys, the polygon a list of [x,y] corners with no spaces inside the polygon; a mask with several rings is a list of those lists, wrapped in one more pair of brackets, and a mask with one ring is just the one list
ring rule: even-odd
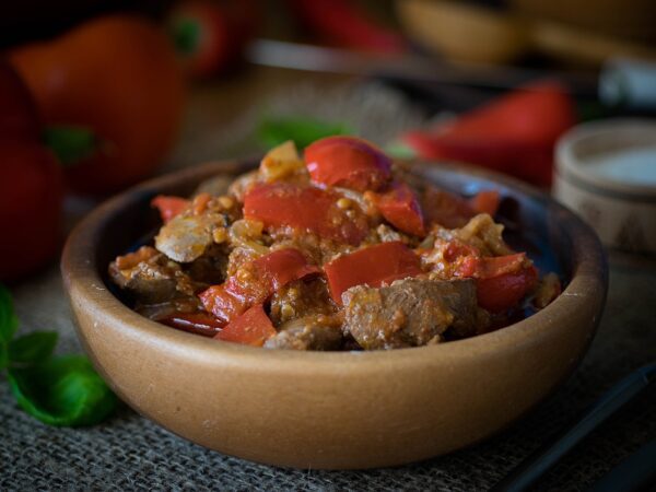
{"label": "topmost glossy red pepper piece crowning the stew", "polygon": [[391,177],[391,161],[379,149],[353,137],[327,137],[305,149],[313,181],[358,191],[377,190]]}

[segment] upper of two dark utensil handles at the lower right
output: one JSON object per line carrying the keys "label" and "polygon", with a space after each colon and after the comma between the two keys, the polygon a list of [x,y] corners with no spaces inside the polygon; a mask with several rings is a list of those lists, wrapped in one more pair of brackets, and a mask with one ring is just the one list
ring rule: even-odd
{"label": "upper of two dark utensil handles at the lower right", "polygon": [[633,399],[654,379],[656,379],[656,363],[645,365],[631,373],[599,398],[577,423],[564,431],[554,442],[530,455],[494,485],[492,491],[519,492],[526,490],[585,436]]}

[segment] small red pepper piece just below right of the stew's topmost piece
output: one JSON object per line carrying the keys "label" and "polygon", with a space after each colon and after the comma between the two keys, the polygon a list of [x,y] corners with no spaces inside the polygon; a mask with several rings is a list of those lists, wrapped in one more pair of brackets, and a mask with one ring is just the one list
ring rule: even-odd
{"label": "small red pepper piece just below right of the stew's topmost piece", "polygon": [[387,191],[374,195],[385,220],[399,231],[423,237],[426,234],[423,211],[414,191],[405,183],[395,183]]}

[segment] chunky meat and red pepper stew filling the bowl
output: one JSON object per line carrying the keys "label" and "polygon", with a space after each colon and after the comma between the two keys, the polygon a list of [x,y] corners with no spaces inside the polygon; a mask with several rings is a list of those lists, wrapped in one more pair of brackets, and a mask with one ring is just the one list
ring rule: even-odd
{"label": "chunky meat and red pepper stew filling the bowl", "polygon": [[494,190],[464,198],[351,137],[159,196],[152,244],[109,265],[142,315],[268,349],[376,350],[502,328],[560,293],[503,239]]}

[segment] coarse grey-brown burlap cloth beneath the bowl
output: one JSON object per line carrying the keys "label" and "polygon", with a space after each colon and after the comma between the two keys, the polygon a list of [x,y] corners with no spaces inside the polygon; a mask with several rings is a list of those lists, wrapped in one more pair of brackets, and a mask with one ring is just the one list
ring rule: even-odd
{"label": "coarse grey-brown burlap cloth beneath the bowl", "polygon": [[[370,103],[376,97],[370,89]],[[340,97],[352,106],[352,93]],[[400,103],[394,96],[383,92],[382,97],[387,117],[394,120],[385,127],[387,132],[398,129],[395,125],[417,122],[408,110],[399,117]],[[355,99],[361,101],[362,94]],[[374,103],[370,105],[379,108]],[[304,105],[302,98],[298,104]],[[251,116],[235,122],[236,127],[247,128]],[[376,121],[380,124],[379,118]],[[220,149],[216,139],[194,140],[189,132],[184,142],[173,167],[208,159],[212,147]],[[60,352],[80,350],[55,266],[16,285],[13,293],[23,332],[57,330]],[[188,443],[125,406],[94,427],[49,427],[19,410],[0,376],[0,491],[487,490],[614,382],[654,359],[656,268],[651,261],[613,257],[597,337],[578,370],[554,395],[484,443],[419,464],[365,471],[291,470],[244,461]],[[575,448],[536,490],[586,490],[655,437],[656,389],[649,388]]]}

